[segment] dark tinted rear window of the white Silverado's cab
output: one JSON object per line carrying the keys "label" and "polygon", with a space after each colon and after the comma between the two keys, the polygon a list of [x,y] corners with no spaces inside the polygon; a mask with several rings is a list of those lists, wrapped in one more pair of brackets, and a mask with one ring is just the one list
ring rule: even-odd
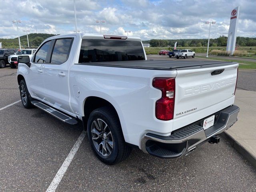
{"label": "dark tinted rear window of the white Silverado's cab", "polygon": [[83,39],[79,63],[145,60],[140,41]]}

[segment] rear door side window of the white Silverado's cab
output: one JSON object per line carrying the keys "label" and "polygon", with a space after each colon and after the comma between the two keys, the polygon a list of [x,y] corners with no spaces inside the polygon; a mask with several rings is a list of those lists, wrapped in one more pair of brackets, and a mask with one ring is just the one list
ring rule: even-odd
{"label": "rear door side window of the white Silverado's cab", "polygon": [[52,64],[62,64],[68,60],[68,55],[72,45],[72,38],[57,39],[52,51]]}

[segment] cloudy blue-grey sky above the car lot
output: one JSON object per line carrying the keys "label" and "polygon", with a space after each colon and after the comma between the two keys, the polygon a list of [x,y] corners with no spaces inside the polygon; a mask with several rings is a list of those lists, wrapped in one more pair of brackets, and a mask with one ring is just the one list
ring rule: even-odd
{"label": "cloudy blue-grey sky above the car lot", "polygon": [[[30,33],[73,33],[73,0],[0,0],[0,38],[17,37],[12,20],[22,20]],[[125,34],[142,40],[152,38],[208,38],[206,20],[212,25],[211,37],[228,34],[230,13],[240,6],[238,36],[256,37],[256,0],[76,0],[78,30],[104,34]]]}

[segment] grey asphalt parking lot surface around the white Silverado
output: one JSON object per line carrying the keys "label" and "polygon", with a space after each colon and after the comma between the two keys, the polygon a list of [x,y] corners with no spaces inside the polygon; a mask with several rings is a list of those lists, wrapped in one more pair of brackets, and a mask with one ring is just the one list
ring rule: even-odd
{"label": "grey asphalt parking lot surface around the white Silverado", "polygon": [[[20,100],[16,71],[0,69],[0,109]],[[247,74],[239,73],[238,85],[251,81]],[[20,102],[0,110],[0,117],[0,191],[46,191],[82,124],[64,124],[38,108],[23,108]],[[107,166],[94,156],[86,136],[56,188],[57,192],[121,190],[256,191],[256,169],[224,139],[178,159],[133,150],[124,162]]]}

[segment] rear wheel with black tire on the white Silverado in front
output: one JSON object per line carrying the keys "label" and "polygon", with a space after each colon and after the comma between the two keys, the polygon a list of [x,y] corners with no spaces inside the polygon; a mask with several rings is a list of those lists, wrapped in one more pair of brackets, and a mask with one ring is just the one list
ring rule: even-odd
{"label": "rear wheel with black tire on the white Silverado in front", "polygon": [[[102,122],[102,124],[105,123],[107,126],[104,126],[104,127],[105,128],[107,127],[106,129],[108,129],[108,131],[105,132],[103,130],[100,131],[99,129],[97,129],[96,128],[97,126],[95,126],[95,123],[97,124],[97,122],[98,122],[98,127],[100,127],[99,122]],[[98,131],[98,134],[95,133],[96,132],[95,130]],[[107,132],[108,133],[110,132],[111,139],[109,137],[106,138]],[[130,152],[132,151],[132,148],[128,146],[124,140],[118,115],[116,114],[116,111],[111,106],[98,108],[90,114],[88,123],[87,123],[87,133],[88,133],[88,139],[93,152],[96,154],[97,158],[102,162],[104,162],[105,164],[108,164],[108,165],[117,164],[123,161],[124,159],[126,159],[129,156]],[[102,134],[102,137],[99,137],[100,134]],[[94,137],[94,141],[92,139],[93,137]],[[105,153],[105,155],[107,154],[108,156],[104,156],[103,146],[105,144],[105,148],[109,149],[111,146],[108,144],[109,141],[112,142],[112,151],[109,154]],[[100,149],[99,147],[100,144],[98,144],[98,149],[96,148],[98,142],[100,144],[104,142],[104,144],[101,145],[102,150],[98,150]],[[105,152],[107,151],[105,150]]]}

